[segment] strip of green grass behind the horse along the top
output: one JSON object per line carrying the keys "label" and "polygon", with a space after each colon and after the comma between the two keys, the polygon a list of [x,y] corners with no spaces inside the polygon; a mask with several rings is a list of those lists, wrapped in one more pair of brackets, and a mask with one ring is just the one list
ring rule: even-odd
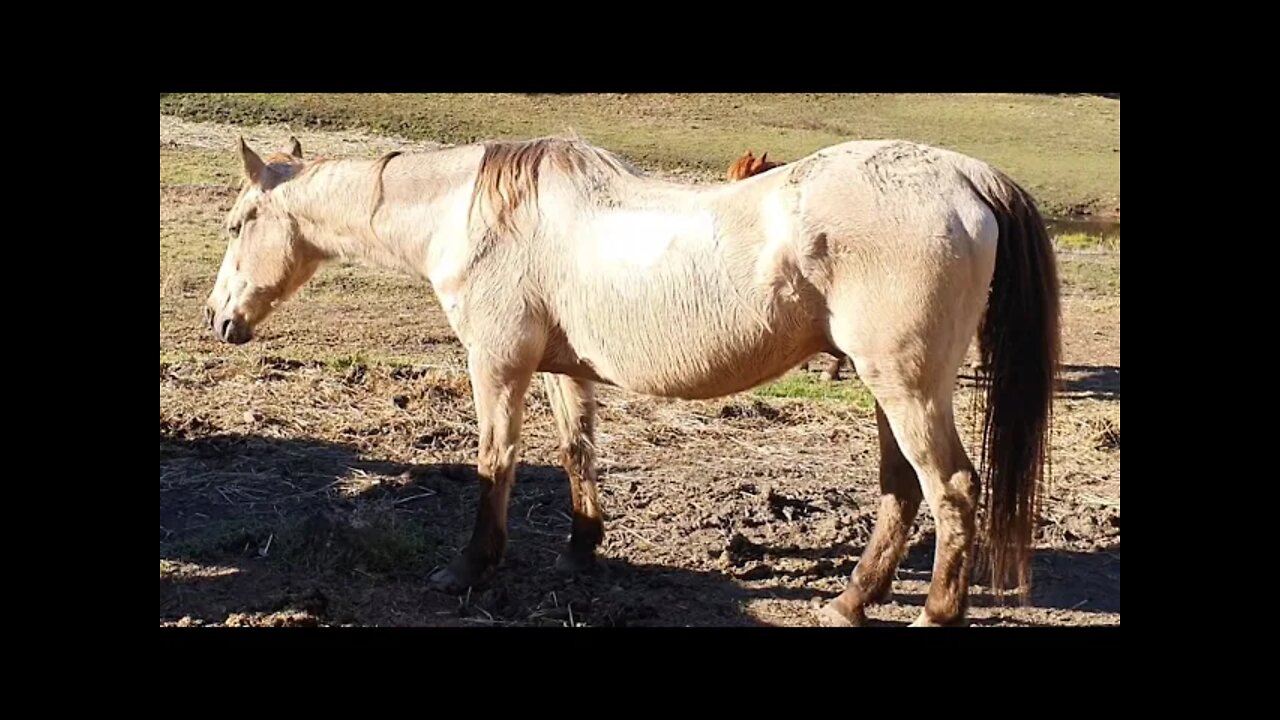
{"label": "strip of green grass behind the horse along the top", "polygon": [[[897,137],[987,160],[1052,214],[1120,202],[1120,102],[1092,96],[173,94],[160,111],[451,143],[572,129],[641,167],[717,177],[748,149],[794,160],[844,140]],[[220,182],[233,160],[224,155],[209,173],[172,177]]]}

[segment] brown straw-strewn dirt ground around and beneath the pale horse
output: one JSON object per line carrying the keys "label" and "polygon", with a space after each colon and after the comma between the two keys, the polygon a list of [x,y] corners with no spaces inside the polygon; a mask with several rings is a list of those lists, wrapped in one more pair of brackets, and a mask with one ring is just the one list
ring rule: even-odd
{"label": "brown straw-strewn dirt ground around and beneath the pale horse", "polygon": [[[876,421],[858,402],[602,388],[607,562],[566,578],[552,565],[568,482],[535,386],[502,570],[467,597],[426,589],[466,542],[476,502],[461,346],[426,286],[355,266],[323,270],[253,343],[216,345],[201,302],[225,247],[238,132],[262,149],[288,136],[160,119],[161,625],[815,624],[815,598],[840,592],[874,524]],[[328,155],[424,146],[300,137]],[[1120,258],[1061,261],[1068,368],[1037,584],[1025,607],[975,587],[974,625],[1120,624]],[[795,373],[826,386],[824,363]],[[874,623],[919,612],[932,528],[922,510]]]}

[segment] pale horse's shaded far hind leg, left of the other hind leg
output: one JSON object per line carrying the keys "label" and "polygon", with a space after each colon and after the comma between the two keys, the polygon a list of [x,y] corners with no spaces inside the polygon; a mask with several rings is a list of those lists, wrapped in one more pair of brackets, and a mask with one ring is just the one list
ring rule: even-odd
{"label": "pale horse's shaded far hind leg, left of the other hind leg", "polygon": [[888,600],[911,523],[920,509],[920,482],[899,448],[879,404],[876,405],[876,424],[881,448],[879,514],[849,585],[822,610],[822,621],[827,625],[861,625],[867,620],[867,605]]}

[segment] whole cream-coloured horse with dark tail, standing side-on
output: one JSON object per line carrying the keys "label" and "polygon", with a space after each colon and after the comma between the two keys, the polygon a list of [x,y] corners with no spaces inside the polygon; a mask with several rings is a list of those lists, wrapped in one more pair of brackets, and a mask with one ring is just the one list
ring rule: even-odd
{"label": "whole cream-coloured horse with dark tail, standing side-on", "polygon": [[[922,502],[937,536],[913,625],[966,623],[975,561],[1001,598],[1016,585],[1027,600],[1060,290],[1034,199],[987,163],[850,141],[750,182],[690,186],[580,138],[376,160],[268,163],[243,138],[237,150],[243,183],[205,310],[219,340],[250,341],[323,263],[346,259],[429,283],[466,348],[480,501],[466,548],[429,587],[463,592],[497,571],[534,375],[572,498],[557,568],[576,573],[595,566],[604,538],[598,383],[713,398],[826,351],[847,355],[876,400],[881,502],[818,621],[860,625],[891,596]],[[980,471],[952,405],[975,336]]]}

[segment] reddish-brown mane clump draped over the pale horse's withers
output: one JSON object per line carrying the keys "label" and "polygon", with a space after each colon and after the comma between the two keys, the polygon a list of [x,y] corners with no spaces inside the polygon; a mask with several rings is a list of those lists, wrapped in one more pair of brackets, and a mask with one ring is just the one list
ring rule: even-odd
{"label": "reddish-brown mane clump draped over the pale horse's withers", "polygon": [[617,155],[579,138],[486,142],[468,217],[483,218],[489,232],[518,233],[521,209],[536,218],[538,181],[548,172],[568,181],[581,197],[596,201],[608,195],[611,181],[640,174]]}

